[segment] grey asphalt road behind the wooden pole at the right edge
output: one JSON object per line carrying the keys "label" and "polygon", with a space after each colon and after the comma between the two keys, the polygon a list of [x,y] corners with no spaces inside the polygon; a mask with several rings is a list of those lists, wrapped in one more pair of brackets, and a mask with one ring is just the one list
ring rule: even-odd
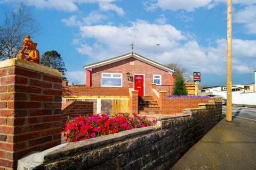
{"label": "grey asphalt road behind the wooden pole at the right edge", "polygon": [[[222,113],[226,114],[226,106],[223,105]],[[232,116],[256,120],[256,108],[232,106]]]}

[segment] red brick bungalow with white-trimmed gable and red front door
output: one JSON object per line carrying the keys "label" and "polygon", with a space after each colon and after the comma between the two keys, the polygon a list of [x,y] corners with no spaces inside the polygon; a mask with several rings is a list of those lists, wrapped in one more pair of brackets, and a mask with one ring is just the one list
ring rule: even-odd
{"label": "red brick bungalow with white-trimmed gable and red front door", "polygon": [[[139,91],[139,96],[150,96],[150,83],[157,90],[171,91],[173,73],[169,67],[137,53],[127,53],[97,63],[84,65],[86,87],[124,87]],[[130,87],[129,87],[130,84]]]}

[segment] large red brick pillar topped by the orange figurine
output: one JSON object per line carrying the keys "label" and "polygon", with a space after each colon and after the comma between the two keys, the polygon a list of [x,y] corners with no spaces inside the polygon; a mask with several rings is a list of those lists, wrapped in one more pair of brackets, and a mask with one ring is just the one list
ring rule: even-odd
{"label": "large red brick pillar topped by the orange figurine", "polygon": [[61,143],[62,74],[17,58],[0,62],[0,169]]}

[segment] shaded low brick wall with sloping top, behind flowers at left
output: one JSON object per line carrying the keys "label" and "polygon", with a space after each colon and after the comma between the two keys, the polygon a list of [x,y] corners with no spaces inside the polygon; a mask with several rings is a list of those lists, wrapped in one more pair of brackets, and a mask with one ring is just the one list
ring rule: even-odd
{"label": "shaded low brick wall with sloping top, behind flowers at left", "polygon": [[88,101],[68,101],[62,105],[62,128],[65,128],[67,117],[76,117],[78,115],[92,115],[93,102]]}

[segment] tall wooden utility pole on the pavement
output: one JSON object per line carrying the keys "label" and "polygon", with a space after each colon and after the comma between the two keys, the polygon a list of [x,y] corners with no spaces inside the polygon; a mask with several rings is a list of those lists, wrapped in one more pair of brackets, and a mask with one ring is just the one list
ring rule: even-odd
{"label": "tall wooden utility pole on the pavement", "polygon": [[228,0],[227,23],[227,113],[226,120],[232,121],[232,0]]}

